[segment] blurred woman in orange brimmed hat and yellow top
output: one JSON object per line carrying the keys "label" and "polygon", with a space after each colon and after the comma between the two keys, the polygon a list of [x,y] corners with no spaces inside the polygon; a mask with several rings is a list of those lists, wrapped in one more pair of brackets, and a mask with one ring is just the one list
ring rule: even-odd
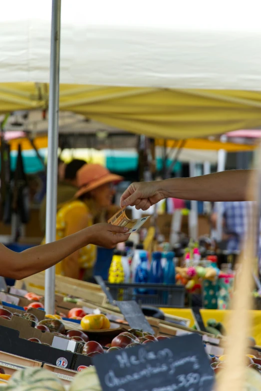
{"label": "blurred woman in orange brimmed hat and yellow top", "polygon": [[[77,172],[78,191],[73,200],[58,207],[56,240],[94,224],[95,218],[107,210],[115,194],[114,184],[122,181],[100,164],[85,164]],[[56,266],[56,273],[88,280],[96,261],[96,246],[88,244]]]}

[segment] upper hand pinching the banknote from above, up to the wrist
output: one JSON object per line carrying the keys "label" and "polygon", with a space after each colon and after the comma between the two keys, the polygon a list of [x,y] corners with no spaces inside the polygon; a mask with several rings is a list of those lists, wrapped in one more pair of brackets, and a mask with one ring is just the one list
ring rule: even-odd
{"label": "upper hand pinching the banknote from above, up to the wrist", "polygon": [[136,209],[149,209],[165,198],[161,183],[161,181],[132,183],[121,197],[121,207],[130,205],[136,206]]}

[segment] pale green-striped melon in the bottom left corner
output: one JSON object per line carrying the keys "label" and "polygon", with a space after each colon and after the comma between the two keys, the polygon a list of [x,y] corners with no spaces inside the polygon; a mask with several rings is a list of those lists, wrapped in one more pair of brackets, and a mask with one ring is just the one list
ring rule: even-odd
{"label": "pale green-striped melon in the bottom left corner", "polygon": [[52,372],[41,368],[25,368],[15,372],[9,380],[6,390],[64,391],[64,388]]}

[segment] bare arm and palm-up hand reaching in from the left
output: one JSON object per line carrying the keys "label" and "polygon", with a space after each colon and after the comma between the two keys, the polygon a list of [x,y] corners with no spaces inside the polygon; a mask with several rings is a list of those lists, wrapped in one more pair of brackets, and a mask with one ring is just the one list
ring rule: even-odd
{"label": "bare arm and palm-up hand reaching in from the left", "polygon": [[32,247],[15,253],[0,244],[0,276],[21,280],[54,266],[81,247],[88,244],[113,248],[128,240],[124,227],[95,224],[53,243]]}

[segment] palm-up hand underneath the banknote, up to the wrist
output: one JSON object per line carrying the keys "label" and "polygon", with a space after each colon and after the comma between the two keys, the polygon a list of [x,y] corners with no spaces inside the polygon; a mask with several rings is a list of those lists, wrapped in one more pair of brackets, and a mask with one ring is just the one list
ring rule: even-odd
{"label": "palm-up hand underneath the banknote, up to the wrist", "polygon": [[118,243],[126,242],[130,234],[126,234],[128,228],[111,224],[94,224],[88,228],[91,231],[90,243],[96,246],[112,249]]}

